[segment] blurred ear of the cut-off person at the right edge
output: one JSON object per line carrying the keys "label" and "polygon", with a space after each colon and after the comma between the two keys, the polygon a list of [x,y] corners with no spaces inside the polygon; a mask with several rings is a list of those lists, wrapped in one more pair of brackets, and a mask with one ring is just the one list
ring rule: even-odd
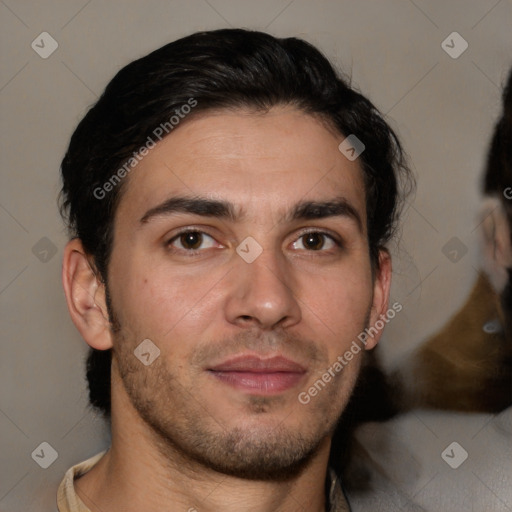
{"label": "blurred ear of the cut-off person at the right edge", "polygon": [[483,236],[483,269],[497,292],[508,281],[507,268],[512,267],[512,245],[507,216],[498,198],[485,201],[481,211]]}

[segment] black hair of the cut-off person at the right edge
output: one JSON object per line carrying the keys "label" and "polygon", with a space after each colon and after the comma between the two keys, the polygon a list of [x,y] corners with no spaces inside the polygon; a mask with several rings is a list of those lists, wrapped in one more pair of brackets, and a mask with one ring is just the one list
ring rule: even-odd
{"label": "black hair of the cut-off person at the right edge", "polygon": [[504,196],[507,187],[512,187],[512,69],[503,91],[503,113],[494,128],[483,179],[484,193],[502,199],[512,226],[512,201]]}

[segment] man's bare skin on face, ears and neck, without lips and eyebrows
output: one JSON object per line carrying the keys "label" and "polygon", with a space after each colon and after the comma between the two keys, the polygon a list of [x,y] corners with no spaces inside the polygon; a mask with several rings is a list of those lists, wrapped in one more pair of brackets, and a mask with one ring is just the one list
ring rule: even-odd
{"label": "man's bare skin on face, ears and neck, without lips and eyebrows", "polygon": [[[372,277],[362,171],[338,150],[343,138],[291,107],[182,123],[124,183],[108,276],[115,330],[90,258],[79,240],[67,245],[72,319],[90,346],[113,347],[112,446],[75,482],[91,510],[324,510],[330,436],[363,351],[307,405],[298,395],[387,310],[391,273],[382,251]],[[140,221],[176,196],[229,201],[236,218]],[[361,226],[350,215],[288,218],[301,201],[339,197]],[[192,254],[183,228],[204,233]],[[252,263],[236,251],[248,236],[262,248]],[[160,350],[149,366],[133,353],[145,339]],[[305,372],[269,394],[208,371],[240,354]]]}

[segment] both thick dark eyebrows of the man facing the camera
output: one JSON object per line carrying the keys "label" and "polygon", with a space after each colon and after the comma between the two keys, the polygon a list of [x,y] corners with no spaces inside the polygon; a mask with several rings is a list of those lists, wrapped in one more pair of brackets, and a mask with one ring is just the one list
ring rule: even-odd
{"label": "both thick dark eyebrows of the man facing the camera", "polygon": [[[200,215],[202,217],[216,217],[236,222],[243,217],[241,209],[228,202],[205,197],[177,196],[165,200],[163,203],[149,209],[139,220],[140,225],[147,224],[155,217],[169,216],[176,213]],[[363,232],[363,221],[357,209],[344,197],[338,196],[329,201],[301,201],[297,203],[284,219],[316,220],[329,217],[345,217],[357,224],[359,231]]]}

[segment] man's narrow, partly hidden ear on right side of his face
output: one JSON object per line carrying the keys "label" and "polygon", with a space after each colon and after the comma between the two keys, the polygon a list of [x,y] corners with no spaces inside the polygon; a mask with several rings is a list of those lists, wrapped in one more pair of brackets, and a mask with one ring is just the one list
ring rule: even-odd
{"label": "man's narrow, partly hidden ear on right side of his face", "polygon": [[[365,349],[370,350],[377,345],[382,335],[382,329],[377,329],[379,325],[377,322],[384,323],[382,316],[385,316],[388,311],[389,292],[391,289],[391,255],[387,249],[379,251],[379,266],[375,270],[373,282],[373,302],[370,311],[370,325],[374,326],[378,332],[372,337],[369,336],[366,340]],[[387,323],[387,321],[385,322]]]}

